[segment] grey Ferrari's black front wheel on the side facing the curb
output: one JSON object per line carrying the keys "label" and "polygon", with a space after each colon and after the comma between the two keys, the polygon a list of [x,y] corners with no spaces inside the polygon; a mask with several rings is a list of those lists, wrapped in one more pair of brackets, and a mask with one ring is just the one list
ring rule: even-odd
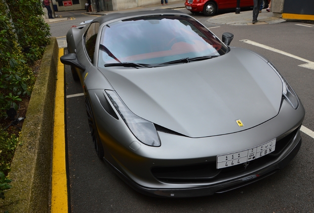
{"label": "grey Ferrari's black front wheel on the side facing the curb", "polygon": [[85,106],[86,106],[86,112],[87,112],[88,125],[90,129],[90,134],[92,136],[93,143],[95,146],[95,151],[96,151],[97,156],[100,159],[102,159],[104,157],[104,147],[100,141],[97,126],[94,120],[93,111],[91,109],[88,97],[85,97]]}

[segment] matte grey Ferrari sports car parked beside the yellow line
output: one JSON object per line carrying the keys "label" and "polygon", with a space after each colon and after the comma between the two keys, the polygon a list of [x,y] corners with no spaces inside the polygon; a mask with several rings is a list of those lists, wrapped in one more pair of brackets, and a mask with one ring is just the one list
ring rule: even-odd
{"label": "matte grey Ferrari sports car parked beside the yellow line", "polygon": [[67,33],[99,158],[159,197],[229,191],[281,170],[305,110],[265,57],[174,10],[113,13]]}

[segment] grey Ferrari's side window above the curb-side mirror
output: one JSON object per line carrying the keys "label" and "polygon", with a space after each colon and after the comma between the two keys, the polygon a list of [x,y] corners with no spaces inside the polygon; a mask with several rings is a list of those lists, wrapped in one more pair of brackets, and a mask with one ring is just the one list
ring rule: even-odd
{"label": "grey Ferrari's side window above the curb-side mirror", "polygon": [[87,51],[87,55],[89,56],[89,60],[91,63],[94,62],[94,52],[95,52],[95,45],[96,45],[96,38],[98,34],[99,23],[94,22],[91,23],[88,30],[85,33],[85,47]]}

